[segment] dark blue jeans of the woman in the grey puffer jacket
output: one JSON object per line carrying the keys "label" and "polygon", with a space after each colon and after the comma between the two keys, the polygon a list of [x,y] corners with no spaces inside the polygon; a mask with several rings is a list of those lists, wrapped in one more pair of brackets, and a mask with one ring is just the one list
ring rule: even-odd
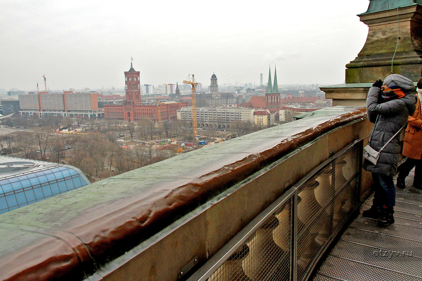
{"label": "dark blue jeans of the woman in the grey puffer jacket", "polygon": [[374,182],[373,203],[376,206],[395,206],[395,187],[393,177],[372,173]]}

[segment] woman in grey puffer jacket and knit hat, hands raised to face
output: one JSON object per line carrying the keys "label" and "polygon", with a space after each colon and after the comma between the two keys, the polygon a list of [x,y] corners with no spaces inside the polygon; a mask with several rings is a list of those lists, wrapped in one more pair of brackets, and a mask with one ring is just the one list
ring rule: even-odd
{"label": "woman in grey puffer jacket and knit hat, hands raised to face", "polygon": [[[388,140],[402,128],[409,115],[416,109],[416,97],[408,94],[414,88],[413,82],[401,75],[392,74],[376,81],[369,89],[366,99],[368,119],[374,125],[371,147],[379,151]],[[376,121],[378,118],[378,121]],[[363,217],[378,219],[379,226],[394,222],[395,186],[393,176],[397,173],[400,156],[400,139],[397,134],[381,151],[378,163],[365,160],[363,169],[370,171],[374,179],[374,199],[371,209]]]}

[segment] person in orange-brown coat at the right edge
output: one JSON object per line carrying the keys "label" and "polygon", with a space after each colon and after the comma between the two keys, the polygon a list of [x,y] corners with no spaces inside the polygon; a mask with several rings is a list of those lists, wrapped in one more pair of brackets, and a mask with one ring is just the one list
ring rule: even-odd
{"label": "person in orange-brown coat at the right edge", "polygon": [[415,112],[407,119],[407,128],[404,135],[403,156],[406,161],[399,167],[397,177],[397,187],[405,188],[405,179],[413,167],[415,167],[415,177],[413,187],[422,189],[422,77],[417,83],[417,103]]}

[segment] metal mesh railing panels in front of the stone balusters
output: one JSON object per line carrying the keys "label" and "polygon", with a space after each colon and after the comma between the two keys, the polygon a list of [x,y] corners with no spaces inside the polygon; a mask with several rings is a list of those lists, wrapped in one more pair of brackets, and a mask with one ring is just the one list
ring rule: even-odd
{"label": "metal mesh railing panels in front of the stone balusters", "polygon": [[252,220],[189,281],[303,281],[359,203],[362,140]]}

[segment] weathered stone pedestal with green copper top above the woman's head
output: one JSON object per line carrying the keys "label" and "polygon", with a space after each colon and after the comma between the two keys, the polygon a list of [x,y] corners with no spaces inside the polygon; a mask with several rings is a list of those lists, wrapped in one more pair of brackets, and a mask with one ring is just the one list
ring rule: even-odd
{"label": "weathered stone pedestal with green copper top above the woman's head", "polygon": [[371,0],[368,11],[358,15],[369,27],[368,37],[356,59],[346,64],[346,83],[383,80],[392,72],[413,81],[420,78],[422,5],[419,4],[422,3],[419,2]]}

